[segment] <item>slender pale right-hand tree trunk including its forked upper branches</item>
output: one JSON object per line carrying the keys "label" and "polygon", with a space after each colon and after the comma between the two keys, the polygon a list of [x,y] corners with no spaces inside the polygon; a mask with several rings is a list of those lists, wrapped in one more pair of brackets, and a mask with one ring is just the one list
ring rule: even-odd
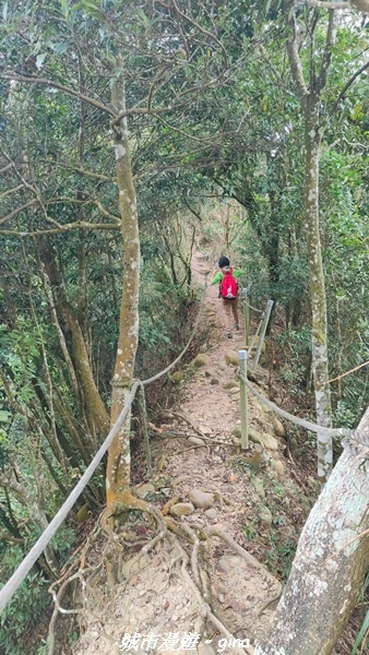
{"label": "slender pale right-hand tree trunk including its forked upper branches", "polygon": [[[305,120],[305,188],[303,218],[307,233],[308,267],[311,322],[311,358],[314,380],[317,422],[330,427],[332,420],[331,393],[328,371],[326,298],[319,226],[319,164],[323,127],[320,122],[320,106],[325,90],[335,44],[335,13],[329,12],[324,52],[319,64],[314,50],[314,29],[310,34],[310,73],[306,84],[299,57],[299,26],[294,0],[286,3],[288,36],[286,49],[291,75],[300,98]],[[317,23],[316,23],[317,26]],[[325,483],[333,463],[332,440],[318,434],[318,477]]]}

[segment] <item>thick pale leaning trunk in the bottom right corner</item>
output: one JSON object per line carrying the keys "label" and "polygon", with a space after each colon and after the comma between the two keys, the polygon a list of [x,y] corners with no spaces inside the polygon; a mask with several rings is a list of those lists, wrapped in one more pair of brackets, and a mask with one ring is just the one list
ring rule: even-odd
{"label": "thick pale leaning trunk in the bottom right corner", "polygon": [[[369,409],[302,529],[284,594],[254,655],[329,655],[368,569]],[[350,543],[352,541],[352,543]]]}

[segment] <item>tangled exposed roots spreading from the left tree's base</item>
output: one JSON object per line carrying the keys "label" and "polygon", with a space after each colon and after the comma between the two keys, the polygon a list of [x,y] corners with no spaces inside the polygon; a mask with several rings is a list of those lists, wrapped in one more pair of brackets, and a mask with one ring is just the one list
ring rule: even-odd
{"label": "tangled exposed roots spreading from the left tree's base", "polygon": [[[120,502],[115,505],[115,511],[109,510],[107,514],[106,510],[100,515],[99,526],[88,537],[86,544],[83,546],[78,559],[74,560],[73,564],[63,573],[62,577],[52,585],[50,592],[55,599],[55,610],[51,617],[49,626],[49,650],[48,655],[53,655],[55,652],[55,630],[57,617],[59,614],[79,614],[80,618],[83,619],[86,612],[92,617],[99,626],[102,634],[111,642],[117,643],[117,638],[111,636],[103,630],[100,615],[94,614],[94,607],[91,607],[91,600],[88,598],[95,598],[96,593],[98,594],[98,586],[103,585],[104,591],[104,603],[105,595],[109,598],[108,604],[112,604],[115,595],[124,590],[126,584],[134,574],[134,570],[142,571],[143,568],[150,565],[150,559],[147,553],[152,551],[159,541],[167,543],[170,549],[176,553],[170,562],[168,579],[171,575],[174,568],[180,574],[186,585],[190,588],[192,596],[194,597],[199,607],[199,618],[197,620],[197,629],[200,633],[203,633],[206,623],[210,623],[221,634],[225,635],[228,640],[236,639],[228,630],[224,621],[216,615],[216,611],[212,607],[212,592],[211,592],[211,577],[206,569],[202,565],[201,559],[203,558],[204,550],[210,547],[211,537],[217,537],[225,541],[235,552],[237,552],[243,560],[255,569],[264,570],[264,567],[247,552],[241,546],[239,546],[231,537],[224,534],[222,531],[210,527],[204,528],[202,525],[195,523],[178,523],[171,516],[163,515],[166,514],[171,505],[171,501],[167,503],[162,513],[154,505],[138,499],[131,495],[130,491],[123,495],[124,503],[122,498]],[[141,522],[138,521],[138,515],[131,512],[138,512],[141,514]],[[142,514],[152,519],[147,524],[142,523]],[[126,521],[126,522],[124,522]],[[99,555],[98,562],[96,561],[86,565],[86,559],[90,550],[96,541],[96,533],[103,528],[103,538],[106,539],[105,546],[102,553]],[[140,547],[139,552],[136,548]],[[92,557],[96,558],[96,552]],[[146,561],[145,559],[146,558]],[[98,582],[96,576],[98,575]],[[61,607],[62,597],[66,594],[68,585],[74,585],[75,581],[80,581],[80,585],[76,591],[80,594],[81,608],[78,609],[63,609]],[[59,586],[58,593],[55,592],[55,587]],[[168,584],[165,583],[164,587]],[[278,593],[263,604],[257,611],[259,616],[273,600],[276,600],[281,595]],[[106,609],[106,607],[105,607]],[[252,647],[238,647],[235,645],[233,652],[242,655],[251,654]]]}

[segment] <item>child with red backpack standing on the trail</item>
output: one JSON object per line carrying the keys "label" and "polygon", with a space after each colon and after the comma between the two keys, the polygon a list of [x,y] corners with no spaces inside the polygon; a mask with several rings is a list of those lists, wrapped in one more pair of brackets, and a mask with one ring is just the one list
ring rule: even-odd
{"label": "child with red backpack standing on the trail", "polygon": [[240,277],[243,274],[243,271],[240,269],[233,269],[229,265],[229,259],[227,257],[219,258],[218,266],[221,271],[214,275],[211,285],[219,285],[219,298],[222,298],[225,313],[226,337],[231,338],[231,317],[234,317],[234,329],[239,330],[237,277]]}

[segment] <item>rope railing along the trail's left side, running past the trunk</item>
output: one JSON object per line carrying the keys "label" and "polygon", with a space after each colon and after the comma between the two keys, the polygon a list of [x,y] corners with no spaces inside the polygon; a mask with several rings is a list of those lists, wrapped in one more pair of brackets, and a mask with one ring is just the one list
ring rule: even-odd
{"label": "rope railing along the trail's left side, running past the trunk", "polygon": [[14,571],[12,576],[9,579],[9,581],[4,584],[4,586],[0,591],[0,612],[4,609],[4,607],[11,600],[11,598],[14,596],[15,592],[17,591],[17,588],[20,587],[22,582],[25,580],[25,577],[29,573],[32,567],[34,565],[36,560],[39,558],[39,556],[44,552],[46,546],[49,544],[50,539],[53,537],[53,535],[56,534],[57,529],[60,527],[62,522],[67,519],[69,512],[71,511],[74,503],[81,496],[83,489],[85,488],[85,486],[87,485],[87,483],[90,481],[92,476],[94,475],[94,473],[95,473],[96,468],[98,467],[98,465],[100,464],[105,453],[109,449],[114,438],[116,437],[116,434],[119,432],[121,426],[123,425],[123,422],[131,409],[131,405],[133,403],[133,400],[134,400],[138,389],[140,389],[140,388],[142,389],[143,385],[150,384],[151,382],[158,380],[158,378],[160,378],[162,376],[167,373],[171,368],[174,368],[178,364],[178,361],[180,361],[180,359],[183,357],[183,355],[187,353],[187,350],[190,347],[190,344],[193,340],[193,336],[195,334],[198,324],[199,324],[199,320],[200,320],[200,315],[201,315],[201,311],[202,311],[202,307],[203,307],[203,302],[204,302],[204,298],[205,298],[205,293],[206,293],[206,284],[204,285],[203,297],[201,300],[197,320],[194,322],[194,326],[192,329],[189,341],[186,344],[184,348],[181,350],[179,356],[168,367],[166,367],[163,371],[160,371],[156,376],[153,376],[152,378],[148,378],[147,380],[143,380],[142,382],[140,382],[140,380],[134,380],[134,382],[131,386],[129,396],[126,401],[123,409],[121,410],[117,421],[115,422],[111,430],[109,431],[103,445],[98,449],[98,451],[94,455],[91,464],[85,469],[80,481],[75,485],[74,489],[71,491],[71,493],[69,495],[67,500],[61,505],[60,510],[53,516],[52,521],[50,521],[50,523],[45,528],[45,531],[43,532],[40,537],[37,539],[36,544],[31,548],[29,552],[26,555],[26,557],[20,563],[20,565]]}

